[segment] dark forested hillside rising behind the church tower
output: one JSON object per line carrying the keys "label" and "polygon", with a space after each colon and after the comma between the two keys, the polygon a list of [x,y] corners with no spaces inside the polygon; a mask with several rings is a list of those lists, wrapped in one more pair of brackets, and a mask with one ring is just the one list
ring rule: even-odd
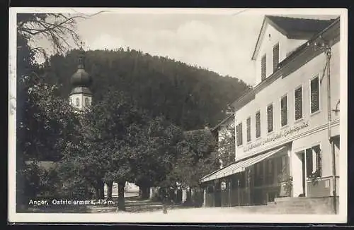
{"label": "dark forested hillside rising behind the church tower", "polygon": [[[62,97],[71,90],[78,52],[50,58],[47,79],[62,84]],[[184,130],[216,125],[226,116],[227,104],[249,88],[237,78],[134,49],[87,51],[85,68],[93,77],[93,100],[100,100],[113,87],[150,115],[162,114]]]}

